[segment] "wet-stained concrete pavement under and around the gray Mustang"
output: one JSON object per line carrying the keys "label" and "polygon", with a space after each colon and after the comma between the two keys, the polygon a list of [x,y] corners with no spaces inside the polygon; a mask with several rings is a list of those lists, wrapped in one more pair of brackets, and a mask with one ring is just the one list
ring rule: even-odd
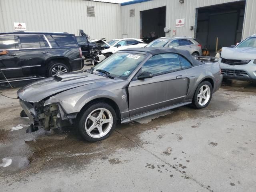
{"label": "wet-stained concrete pavement under and around the gray Mustang", "polygon": [[[17,90],[17,89],[16,89]],[[2,90],[15,97],[16,90]],[[73,128],[26,134],[17,100],[0,96],[3,191],[232,191],[256,189],[256,85],[232,81],[202,110],[184,106],[122,124],[101,142]],[[12,130],[22,124],[24,128]]]}

